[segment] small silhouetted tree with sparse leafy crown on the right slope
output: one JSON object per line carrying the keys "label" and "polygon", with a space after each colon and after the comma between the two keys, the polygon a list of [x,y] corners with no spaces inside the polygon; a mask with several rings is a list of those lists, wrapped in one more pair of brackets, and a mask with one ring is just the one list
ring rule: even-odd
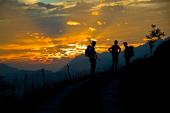
{"label": "small silhouetted tree with sparse leafy crown on the right slope", "polygon": [[150,31],[149,34],[146,35],[146,39],[148,40],[148,44],[150,46],[150,51],[152,54],[154,43],[157,40],[162,39],[162,37],[165,36],[165,33],[162,32],[159,28],[157,28],[157,25],[152,24],[151,27],[152,31]]}

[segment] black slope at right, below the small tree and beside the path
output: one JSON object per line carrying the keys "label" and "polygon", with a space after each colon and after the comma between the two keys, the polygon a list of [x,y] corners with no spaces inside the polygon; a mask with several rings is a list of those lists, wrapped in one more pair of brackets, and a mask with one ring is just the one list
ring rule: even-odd
{"label": "black slope at right, below the small tree and beside the path", "polygon": [[122,101],[127,112],[163,112],[169,90],[170,41],[157,48],[154,56],[136,61],[122,74],[127,75],[121,84]]}

